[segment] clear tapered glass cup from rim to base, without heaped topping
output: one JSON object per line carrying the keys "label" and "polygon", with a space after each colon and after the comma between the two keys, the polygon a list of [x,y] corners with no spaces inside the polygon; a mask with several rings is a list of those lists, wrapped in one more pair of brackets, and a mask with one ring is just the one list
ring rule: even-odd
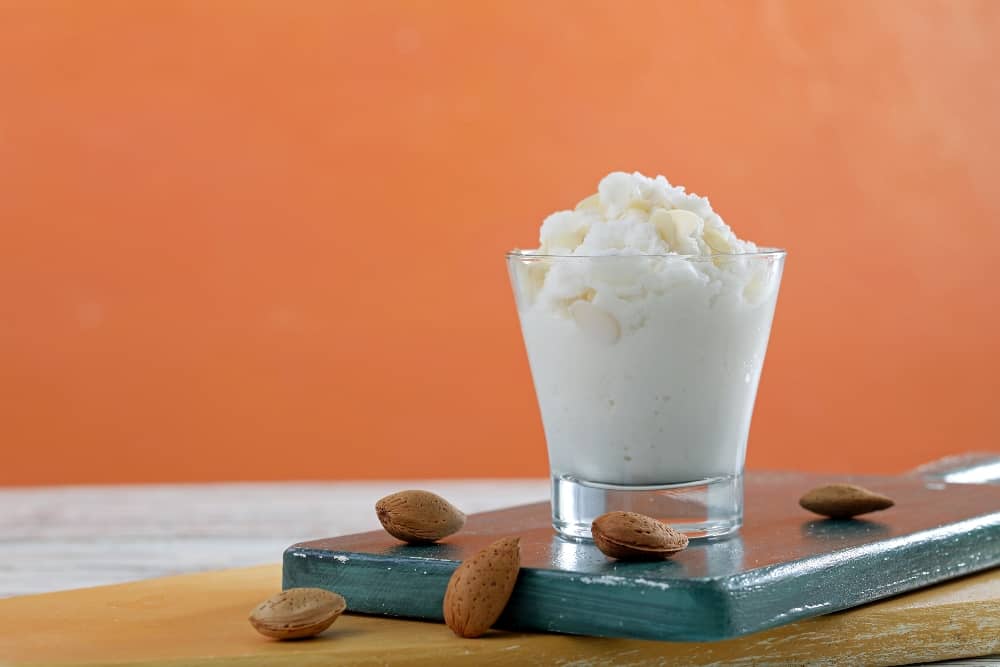
{"label": "clear tapered glass cup from rim to base, without heaped topping", "polygon": [[739,529],[784,259],[507,254],[561,536],[590,539],[612,510],[692,538]]}

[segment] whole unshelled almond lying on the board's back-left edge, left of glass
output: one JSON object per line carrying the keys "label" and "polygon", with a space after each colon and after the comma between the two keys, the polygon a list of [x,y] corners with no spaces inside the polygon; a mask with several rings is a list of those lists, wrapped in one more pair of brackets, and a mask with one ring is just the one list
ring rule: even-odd
{"label": "whole unshelled almond lying on the board's back-left edge, left of glass", "polygon": [[457,533],[465,515],[430,491],[399,491],[375,503],[382,527],[398,540],[427,544]]}

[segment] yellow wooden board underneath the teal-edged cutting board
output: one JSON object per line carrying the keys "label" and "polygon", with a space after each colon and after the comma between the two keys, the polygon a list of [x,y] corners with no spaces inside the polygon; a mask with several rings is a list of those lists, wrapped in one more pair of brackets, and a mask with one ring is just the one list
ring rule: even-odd
{"label": "yellow wooden board underneath the teal-edged cutting board", "polygon": [[687,644],[492,632],[345,615],[275,642],[246,617],[269,565],[0,600],[0,665],[896,665],[1000,652],[1000,570],[740,639]]}

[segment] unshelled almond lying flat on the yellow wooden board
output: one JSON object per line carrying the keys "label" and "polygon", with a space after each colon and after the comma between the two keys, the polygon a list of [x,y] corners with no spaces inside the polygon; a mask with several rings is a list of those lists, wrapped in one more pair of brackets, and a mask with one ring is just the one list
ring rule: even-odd
{"label": "unshelled almond lying flat on the yellow wooden board", "polygon": [[303,639],[330,627],[347,608],[343,597],[322,588],[289,588],[250,612],[250,625],[274,639]]}

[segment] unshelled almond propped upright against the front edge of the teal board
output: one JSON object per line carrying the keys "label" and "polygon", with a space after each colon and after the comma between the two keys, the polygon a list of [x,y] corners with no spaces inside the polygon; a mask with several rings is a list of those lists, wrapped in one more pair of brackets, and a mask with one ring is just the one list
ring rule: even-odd
{"label": "unshelled almond propped upright against the front edge of the teal board", "polygon": [[505,537],[458,566],[444,594],[444,622],[459,637],[478,637],[500,618],[521,568],[519,537]]}

